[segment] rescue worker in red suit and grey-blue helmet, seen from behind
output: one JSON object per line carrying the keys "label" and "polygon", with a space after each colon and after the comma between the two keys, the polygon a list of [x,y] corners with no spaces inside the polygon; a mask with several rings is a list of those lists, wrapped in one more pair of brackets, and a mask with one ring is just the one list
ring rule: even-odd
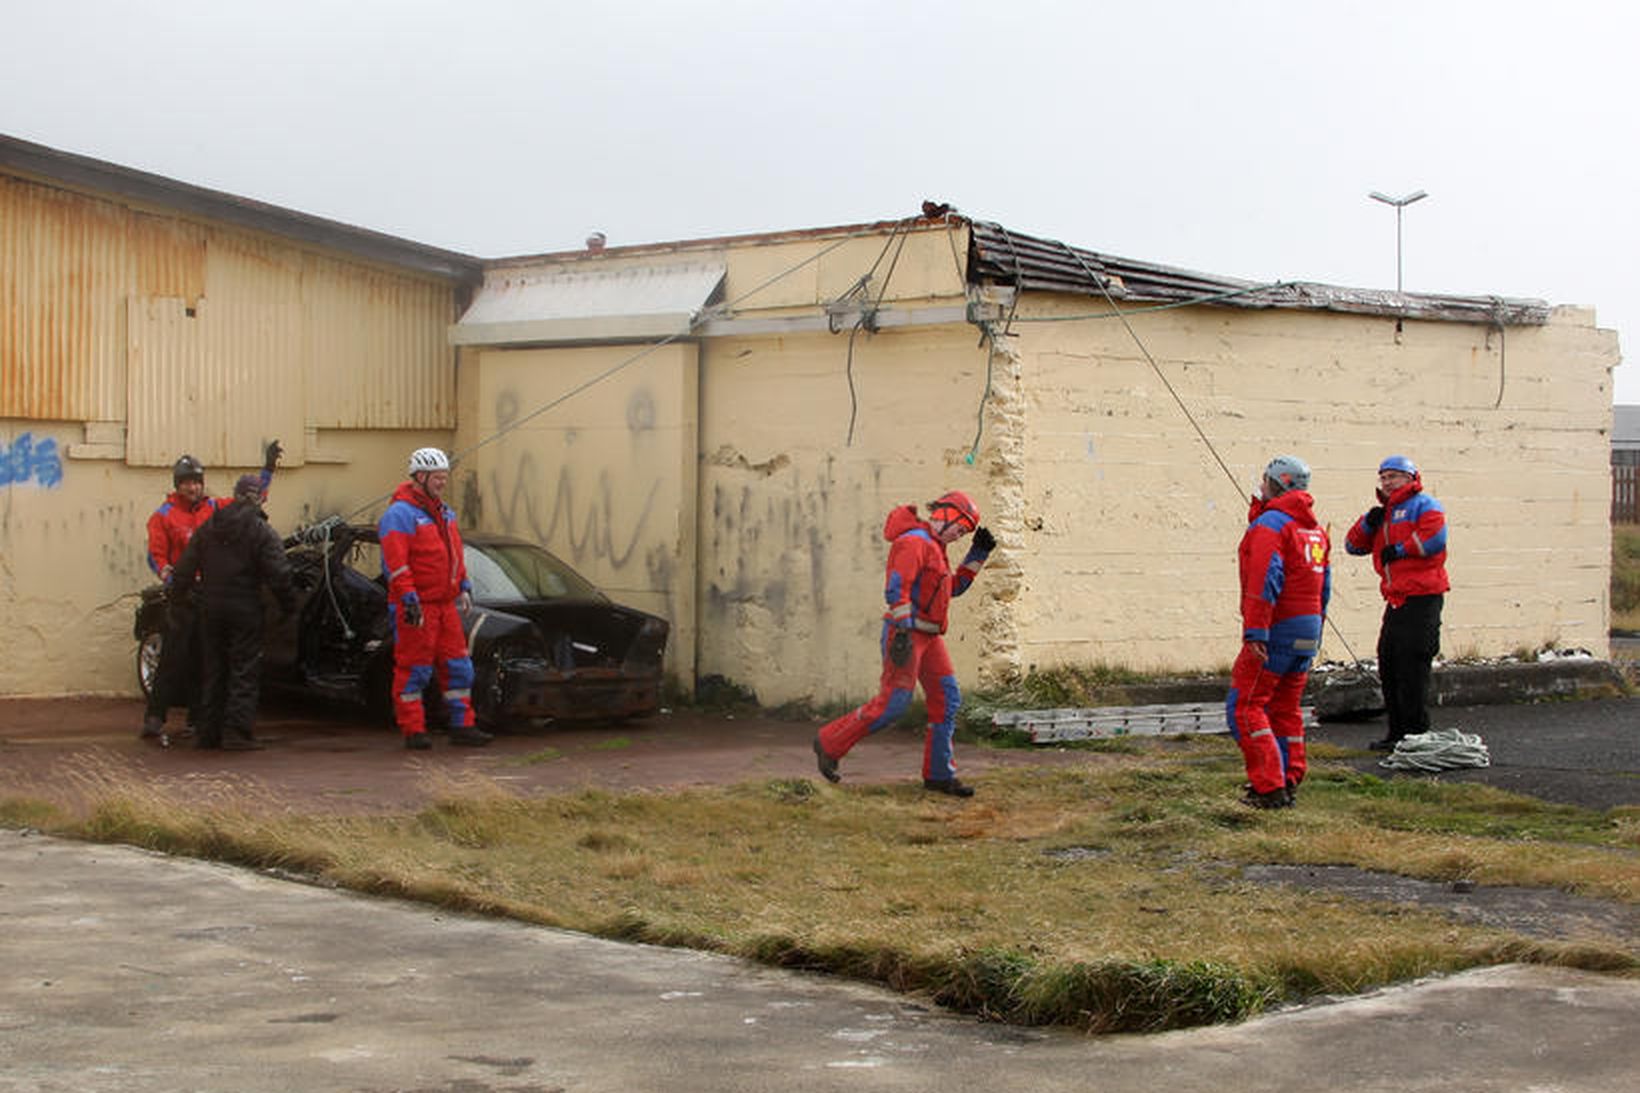
{"label": "rescue worker in red suit and grey-blue helmet, seen from behind", "polygon": [[1292,806],[1307,768],[1299,699],[1332,596],[1332,543],[1315,524],[1309,484],[1304,460],[1271,460],[1238,551],[1241,653],[1225,716],[1246,763],[1243,803],[1260,809]]}

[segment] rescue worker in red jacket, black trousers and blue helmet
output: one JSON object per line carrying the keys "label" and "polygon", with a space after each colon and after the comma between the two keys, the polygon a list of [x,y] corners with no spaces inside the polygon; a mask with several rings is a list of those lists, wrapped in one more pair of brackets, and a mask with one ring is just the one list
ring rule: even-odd
{"label": "rescue worker in red jacket, black trousers and blue helmet", "polygon": [[1351,555],[1371,555],[1384,620],[1378,630],[1378,681],[1389,730],[1368,747],[1394,752],[1412,734],[1430,730],[1430,665],[1440,653],[1440,612],[1446,579],[1446,509],[1424,492],[1407,456],[1378,464],[1378,504],[1345,535]]}

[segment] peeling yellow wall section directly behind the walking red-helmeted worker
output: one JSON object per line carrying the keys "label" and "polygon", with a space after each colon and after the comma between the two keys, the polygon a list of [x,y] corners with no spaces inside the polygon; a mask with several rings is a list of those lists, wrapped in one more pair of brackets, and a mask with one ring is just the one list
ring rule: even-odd
{"label": "peeling yellow wall section directly behind the walking red-helmeted worker", "polygon": [[[702,350],[702,675],[764,702],[876,689],[889,510],[964,489],[994,522],[984,464],[966,461],[986,391],[974,341],[966,325],[861,335],[854,407],[846,335]],[[953,602],[948,643],[964,679],[992,576]]]}

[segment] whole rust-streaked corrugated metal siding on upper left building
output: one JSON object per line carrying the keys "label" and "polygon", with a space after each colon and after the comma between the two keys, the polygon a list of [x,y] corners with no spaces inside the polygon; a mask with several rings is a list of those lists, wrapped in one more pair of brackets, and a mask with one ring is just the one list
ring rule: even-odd
{"label": "whole rust-streaked corrugated metal siding on upper left building", "polygon": [[436,277],[0,177],[0,417],[123,420],[133,464],[448,428],[454,318]]}

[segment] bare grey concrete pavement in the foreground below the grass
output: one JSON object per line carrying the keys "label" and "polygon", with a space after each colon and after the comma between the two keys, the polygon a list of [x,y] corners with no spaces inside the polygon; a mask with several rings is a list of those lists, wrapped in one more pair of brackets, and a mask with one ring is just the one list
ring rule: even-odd
{"label": "bare grey concrete pavement in the foreground below the grass", "polygon": [[1082,1037],[840,980],[0,832],[0,1091],[1630,1088],[1640,983],[1506,967]]}

